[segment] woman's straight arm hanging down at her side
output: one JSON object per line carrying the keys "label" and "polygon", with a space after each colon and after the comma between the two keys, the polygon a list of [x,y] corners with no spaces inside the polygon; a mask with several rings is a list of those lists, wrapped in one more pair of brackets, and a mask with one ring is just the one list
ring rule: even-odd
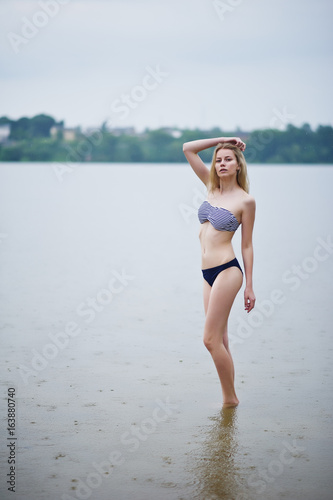
{"label": "woman's straight arm hanging down at her side", "polygon": [[244,303],[245,310],[249,313],[254,308],[256,297],[253,292],[252,272],[253,272],[253,244],[252,234],[254,226],[254,218],[256,212],[256,202],[250,196],[246,202],[242,214],[242,256],[245,271],[245,291]]}

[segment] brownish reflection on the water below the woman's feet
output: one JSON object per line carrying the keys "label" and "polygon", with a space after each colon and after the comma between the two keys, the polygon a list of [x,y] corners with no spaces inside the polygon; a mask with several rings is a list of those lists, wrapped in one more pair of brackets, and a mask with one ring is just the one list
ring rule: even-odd
{"label": "brownish reflection on the water below the woman's feet", "polygon": [[238,500],[244,489],[240,484],[237,464],[237,407],[223,408],[213,424],[205,430],[206,439],[195,458],[191,472],[196,476],[197,491],[193,497],[200,500]]}

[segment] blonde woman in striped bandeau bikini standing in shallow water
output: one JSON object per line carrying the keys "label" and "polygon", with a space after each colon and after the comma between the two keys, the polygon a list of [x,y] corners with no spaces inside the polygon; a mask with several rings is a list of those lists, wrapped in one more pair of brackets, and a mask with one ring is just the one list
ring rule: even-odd
{"label": "blonde woman in striped bandeau bikini standing in shallow water", "polygon": [[[198,152],[214,146],[216,148],[209,171]],[[228,318],[243,282],[243,271],[231,243],[240,224],[246,279],[245,310],[249,313],[255,304],[252,288],[255,200],[248,194],[246,162],[242,153],[245,147],[238,137],[203,139],[183,145],[187,161],[208,190],[207,200],[198,212],[206,315],[204,344],[220,378],[224,406],[237,406],[239,403],[228,343]]]}

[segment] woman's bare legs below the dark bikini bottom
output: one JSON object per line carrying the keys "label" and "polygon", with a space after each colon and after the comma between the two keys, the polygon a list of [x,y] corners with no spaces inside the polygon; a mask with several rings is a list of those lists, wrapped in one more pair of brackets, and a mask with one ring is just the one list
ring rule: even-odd
{"label": "woman's bare legs below the dark bikini bottom", "polygon": [[[204,287],[206,322],[204,344],[209,350],[220,378],[223,402],[237,405],[234,387],[234,364],[228,346],[228,317],[231,306],[242,286],[243,275],[237,267],[222,271],[208,291]],[[207,283],[207,286],[208,283]]]}

